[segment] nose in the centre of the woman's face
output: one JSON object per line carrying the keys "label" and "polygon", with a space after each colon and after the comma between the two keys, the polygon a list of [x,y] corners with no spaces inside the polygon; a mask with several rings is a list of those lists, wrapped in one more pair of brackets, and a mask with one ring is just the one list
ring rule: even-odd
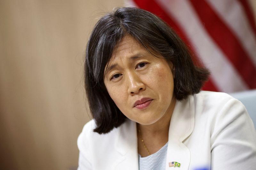
{"label": "nose in the centre of the woman's face", "polygon": [[128,74],[128,94],[134,95],[146,89],[145,84],[141,81],[141,78],[136,73]]}

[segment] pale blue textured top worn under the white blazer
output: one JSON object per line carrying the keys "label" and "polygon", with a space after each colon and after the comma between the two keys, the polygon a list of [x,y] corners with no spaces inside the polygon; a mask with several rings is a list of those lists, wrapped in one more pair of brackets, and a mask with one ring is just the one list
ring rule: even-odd
{"label": "pale blue textured top worn under the white blazer", "polygon": [[139,170],[165,170],[168,142],[156,153],[147,157],[139,154]]}

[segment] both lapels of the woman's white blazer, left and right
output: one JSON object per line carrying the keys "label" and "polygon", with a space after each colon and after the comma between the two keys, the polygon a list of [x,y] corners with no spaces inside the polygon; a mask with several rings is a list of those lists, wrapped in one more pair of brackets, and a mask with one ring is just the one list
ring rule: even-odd
{"label": "both lapels of the woman's white blazer, left and right", "polygon": [[[176,101],[169,127],[166,170],[174,168],[168,166],[168,163],[172,161],[181,164],[180,170],[187,170],[189,167],[190,151],[183,142],[194,129],[195,109],[193,99],[193,96],[189,96],[186,100]],[[117,133],[115,148],[120,153],[120,158],[113,164],[112,169],[138,170],[137,145],[136,123],[126,120]]]}

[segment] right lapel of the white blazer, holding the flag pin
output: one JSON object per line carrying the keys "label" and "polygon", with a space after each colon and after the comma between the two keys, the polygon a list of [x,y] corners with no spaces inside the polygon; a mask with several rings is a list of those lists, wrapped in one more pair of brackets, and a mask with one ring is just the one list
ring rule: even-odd
{"label": "right lapel of the white blazer, holding the flag pin", "polygon": [[169,162],[180,163],[179,170],[188,170],[190,164],[190,151],[183,141],[189,137],[194,129],[194,104],[193,96],[184,101],[177,101],[172,113],[168,149],[166,157],[166,170],[172,170]]}

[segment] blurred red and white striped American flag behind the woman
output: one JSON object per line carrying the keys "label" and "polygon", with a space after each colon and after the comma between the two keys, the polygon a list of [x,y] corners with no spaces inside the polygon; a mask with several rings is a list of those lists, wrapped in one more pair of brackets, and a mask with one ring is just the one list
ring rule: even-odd
{"label": "blurred red and white striped American flag behind the woman", "polygon": [[[211,72],[203,89],[256,89],[252,0],[127,0],[168,23]],[[198,60],[194,57],[195,63]]]}

